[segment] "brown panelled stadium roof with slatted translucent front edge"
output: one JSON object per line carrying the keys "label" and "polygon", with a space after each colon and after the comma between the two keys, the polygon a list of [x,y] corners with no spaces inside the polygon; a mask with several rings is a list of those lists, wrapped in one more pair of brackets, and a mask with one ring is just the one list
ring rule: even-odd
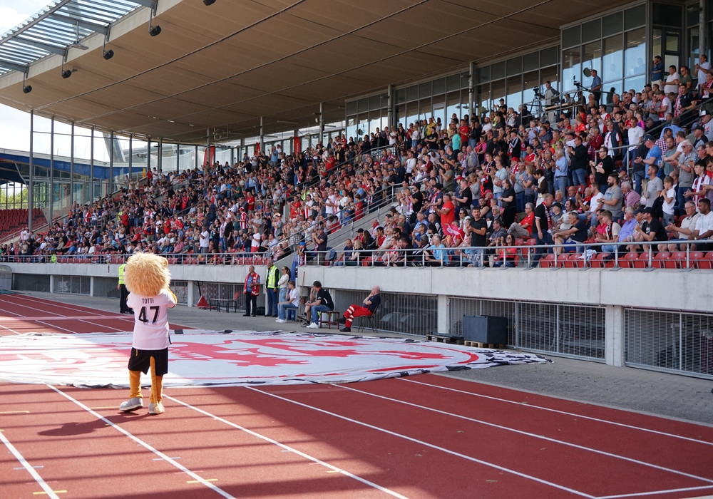
{"label": "brown panelled stadium roof with slatted translucent front edge", "polygon": [[0,103],[180,143],[205,143],[209,129],[254,137],[261,117],[267,135],[314,125],[319,103],[325,123],[342,120],[354,96],[555,41],[561,25],[620,4],[58,0],[0,40]]}

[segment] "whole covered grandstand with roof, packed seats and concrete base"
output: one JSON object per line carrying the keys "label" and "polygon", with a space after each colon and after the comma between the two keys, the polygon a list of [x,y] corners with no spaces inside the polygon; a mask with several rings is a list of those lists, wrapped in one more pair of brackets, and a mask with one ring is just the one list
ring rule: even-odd
{"label": "whole covered grandstand with roof, packed seats and concrete base", "polygon": [[378,283],[384,331],[507,317],[515,348],[713,378],[707,2],[117,4],[0,41],[38,145],[0,151],[14,289],[118,296],[155,252],[210,306],[271,260],[342,311]]}

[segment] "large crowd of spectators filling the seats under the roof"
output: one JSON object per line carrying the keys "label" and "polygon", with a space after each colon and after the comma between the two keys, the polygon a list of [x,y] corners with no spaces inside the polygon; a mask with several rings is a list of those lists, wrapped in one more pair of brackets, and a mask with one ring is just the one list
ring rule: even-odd
{"label": "large crowd of spectators filling the seats under the roof", "polygon": [[562,104],[553,123],[553,113],[518,112],[501,99],[480,117],[150,172],[1,251],[304,259],[391,192],[391,212],[348,240],[338,264],[512,266],[513,246],[526,240],[562,245],[555,252],[585,253],[588,242],[605,252],[713,249],[713,73],[704,56],[696,71],[699,86],[688,68],[672,67],[666,81],[654,71],[652,83],[622,95],[559,96],[547,82],[545,97]]}

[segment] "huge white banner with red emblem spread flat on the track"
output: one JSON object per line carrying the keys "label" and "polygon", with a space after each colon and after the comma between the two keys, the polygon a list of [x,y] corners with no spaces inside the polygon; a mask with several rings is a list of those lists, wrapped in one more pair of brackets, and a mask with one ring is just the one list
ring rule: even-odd
{"label": "huge white banner with red emblem spread flat on the track", "polygon": [[[0,381],[128,387],[132,334],[0,336]],[[534,354],[413,339],[282,331],[172,331],[163,383],[177,386],[348,383],[506,364]],[[143,380],[150,383],[150,378]]]}

